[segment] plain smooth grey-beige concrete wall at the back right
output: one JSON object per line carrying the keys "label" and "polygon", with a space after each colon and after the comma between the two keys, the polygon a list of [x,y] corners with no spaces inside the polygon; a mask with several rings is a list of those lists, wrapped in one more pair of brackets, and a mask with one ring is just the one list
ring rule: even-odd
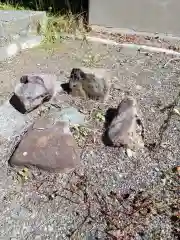
{"label": "plain smooth grey-beige concrete wall at the back right", "polygon": [[180,0],[89,0],[89,23],[180,35]]}

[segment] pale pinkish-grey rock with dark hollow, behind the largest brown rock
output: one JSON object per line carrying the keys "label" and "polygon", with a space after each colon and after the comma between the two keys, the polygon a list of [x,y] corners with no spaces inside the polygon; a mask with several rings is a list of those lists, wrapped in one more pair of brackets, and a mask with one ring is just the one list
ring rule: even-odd
{"label": "pale pinkish-grey rock with dark hollow, behind the largest brown rock", "polygon": [[20,78],[10,102],[16,109],[24,109],[22,113],[30,112],[50,100],[58,91],[61,91],[61,87],[58,89],[56,75],[27,74]]}

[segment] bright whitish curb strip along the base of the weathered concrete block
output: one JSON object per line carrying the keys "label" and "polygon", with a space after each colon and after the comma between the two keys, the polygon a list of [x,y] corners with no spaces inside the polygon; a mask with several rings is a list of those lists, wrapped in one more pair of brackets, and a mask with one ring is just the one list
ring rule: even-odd
{"label": "bright whitish curb strip along the base of the weathered concrete block", "polygon": [[17,42],[14,41],[7,46],[0,47],[0,62],[15,57],[22,50],[39,46],[42,40],[42,36],[24,37]]}

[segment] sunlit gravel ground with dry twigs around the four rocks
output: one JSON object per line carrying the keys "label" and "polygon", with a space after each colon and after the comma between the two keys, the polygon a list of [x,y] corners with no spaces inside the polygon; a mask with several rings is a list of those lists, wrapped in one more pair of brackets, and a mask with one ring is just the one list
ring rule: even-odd
{"label": "sunlit gravel ground with dry twigs around the four rocks", "polygon": [[[171,108],[160,111],[174,99],[180,108],[180,63],[164,67],[170,58],[68,40],[1,63],[2,103],[26,72],[61,74],[67,81],[75,66],[107,68],[112,89],[107,104],[59,96],[59,103],[76,106],[89,120],[87,138],[78,139],[80,169],[69,175],[33,169],[22,183],[15,169],[1,167],[0,239],[178,239],[177,219],[172,220],[178,176],[171,169],[180,159],[180,117]],[[103,123],[93,118],[116,107],[127,92],[137,99],[146,130],[147,147],[133,158],[105,147]]]}

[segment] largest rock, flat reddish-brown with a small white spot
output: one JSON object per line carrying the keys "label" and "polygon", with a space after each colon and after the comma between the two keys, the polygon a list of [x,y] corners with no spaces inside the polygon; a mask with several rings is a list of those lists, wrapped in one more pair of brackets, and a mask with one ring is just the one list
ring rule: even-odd
{"label": "largest rock, flat reddish-brown with a small white spot", "polygon": [[65,122],[53,124],[49,119],[40,119],[23,137],[10,162],[49,171],[66,171],[75,168],[80,157]]}

